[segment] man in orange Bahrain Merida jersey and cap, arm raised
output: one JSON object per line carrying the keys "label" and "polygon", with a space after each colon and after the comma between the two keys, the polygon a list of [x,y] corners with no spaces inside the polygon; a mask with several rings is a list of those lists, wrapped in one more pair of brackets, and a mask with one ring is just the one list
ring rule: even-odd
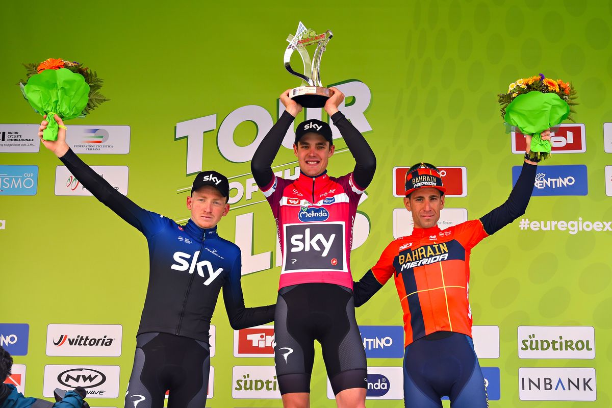
{"label": "man in orange Bahrain Merida jersey and cap, arm raised", "polygon": [[[550,140],[550,130],[541,133]],[[395,277],[404,314],[404,403],[406,408],[438,408],[449,396],[452,408],[488,407],[487,390],[472,342],[469,256],[480,240],[524,214],[537,162],[529,160],[509,198],[478,220],[438,228],[444,208],[442,178],[428,163],[406,173],[404,206],[414,231],[391,242],[372,269],[354,283],[355,306],[363,305]]]}

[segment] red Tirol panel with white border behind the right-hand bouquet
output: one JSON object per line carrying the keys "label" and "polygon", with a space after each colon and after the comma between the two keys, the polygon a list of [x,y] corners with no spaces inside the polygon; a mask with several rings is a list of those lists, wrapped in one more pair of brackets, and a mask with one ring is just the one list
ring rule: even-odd
{"label": "red Tirol panel with white border behind the right-hand bouquet", "polygon": [[[550,133],[553,154],[586,152],[584,124],[561,124],[553,129],[554,132]],[[525,135],[521,132],[512,132],[512,153],[525,154],[526,148]]]}

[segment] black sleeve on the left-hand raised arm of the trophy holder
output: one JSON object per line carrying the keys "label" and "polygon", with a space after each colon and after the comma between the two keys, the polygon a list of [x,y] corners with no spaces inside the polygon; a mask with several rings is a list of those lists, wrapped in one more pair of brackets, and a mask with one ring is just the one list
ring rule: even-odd
{"label": "black sleeve on the left-hand raised arm of the trophy holder", "polygon": [[283,112],[278,121],[270,129],[270,132],[261,141],[257,150],[255,150],[251,160],[251,171],[253,172],[255,182],[261,188],[270,184],[274,178],[272,161],[274,161],[278,149],[280,149],[280,145],[283,143],[285,134],[294,119],[296,118],[291,116],[289,112]]}

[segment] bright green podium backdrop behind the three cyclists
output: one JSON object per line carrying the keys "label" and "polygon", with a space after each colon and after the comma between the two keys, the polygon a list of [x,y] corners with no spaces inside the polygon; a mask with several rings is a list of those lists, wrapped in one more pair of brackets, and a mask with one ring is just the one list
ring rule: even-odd
{"label": "bright green podium backdrop behind the three cyclists", "polygon": [[[501,204],[512,187],[511,168],[520,165],[504,134],[496,94],[521,76],[539,72],[571,81],[578,89],[578,122],[586,125],[586,152],[553,155],[547,165],[588,166],[588,195],[532,199],[533,220],[612,221],[605,193],[603,123],[612,122],[612,3],[606,1],[403,1],[403,2],[86,2],[61,4],[11,1],[2,7],[0,123],[37,123],[15,83],[21,62],[63,57],[83,61],[105,79],[111,99],[84,120],[70,124],[129,125],[127,155],[81,155],[89,165],[129,166],[128,196],[146,209],[174,219],[188,218],[185,194],[187,139],[175,140],[177,124],[216,114],[216,129],[204,133],[203,166],[228,176],[250,172],[248,161],[232,163],[220,154],[217,132],[223,118],[241,106],[259,105],[275,120],[277,97],[298,86],[282,65],[286,36],[301,19],[317,31],[332,29],[323,57],[324,83],[356,78],[371,102],[365,133],[378,159],[369,198],[359,206],[370,234],[353,251],[359,277],[393,239],[392,169],[428,161],[466,166],[468,194],[448,198],[447,207],[468,209],[470,219]],[[255,139],[251,122],[234,133],[239,146]],[[177,135],[183,136],[183,135]],[[337,140],[337,148],[345,144]],[[289,163],[282,149],[275,164]],[[94,198],[54,195],[59,161],[41,146],[36,154],[0,154],[2,165],[39,166],[35,196],[0,196],[2,287],[0,321],[28,323],[27,391],[42,396],[48,364],[121,366],[122,395],[130,374],[135,332],[147,282],[147,247],[141,234]],[[346,174],[353,158],[330,161],[331,174]],[[285,166],[289,168],[291,166]],[[242,179],[245,179],[243,177]],[[253,193],[251,202],[263,200]],[[248,204],[246,200],[236,206]],[[253,213],[253,254],[272,251],[275,223],[267,204],[232,210],[220,223],[233,240],[236,216]],[[518,222],[518,221],[517,221]],[[501,400],[491,406],[573,407],[586,402],[526,402],[518,398],[520,367],[593,367],[597,401],[610,405],[612,381],[612,232],[520,231],[517,223],[484,240],[472,252],[471,308],[474,324],[498,325],[500,357],[481,360],[501,369]],[[273,262],[274,264],[274,262]],[[275,301],[278,267],[245,275],[247,305]],[[231,399],[234,365],[273,365],[271,358],[234,358],[233,332],[219,300],[214,407],[280,407],[280,400]],[[399,325],[401,310],[392,283],[357,311],[367,325]],[[121,357],[47,357],[50,323],[123,325]],[[593,360],[521,360],[520,325],[580,325],[595,328]],[[376,359],[373,366],[397,366],[400,359]],[[98,399],[92,406],[122,406],[122,399]],[[371,407],[399,401],[368,401]],[[334,406],[326,397],[318,354],[312,406]]]}

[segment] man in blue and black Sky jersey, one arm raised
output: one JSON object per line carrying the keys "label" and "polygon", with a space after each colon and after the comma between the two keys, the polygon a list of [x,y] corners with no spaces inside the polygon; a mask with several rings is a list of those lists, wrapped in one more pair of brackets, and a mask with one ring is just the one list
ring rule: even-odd
{"label": "man in blue and black Sky jersey, one arm raised", "polygon": [[[45,117],[46,119],[46,117]],[[56,121],[63,126],[56,115]],[[193,181],[184,226],[137,206],[89,168],[65,143],[42,143],[95,198],[138,229],[149,244],[149,286],[136,336],[136,355],[125,395],[125,408],[204,407],[210,369],[209,328],[217,297],[235,330],[274,320],[274,305],[245,308],[241,252],[217,235],[217,223],[230,205],[228,179],[216,171],[200,172]]]}

